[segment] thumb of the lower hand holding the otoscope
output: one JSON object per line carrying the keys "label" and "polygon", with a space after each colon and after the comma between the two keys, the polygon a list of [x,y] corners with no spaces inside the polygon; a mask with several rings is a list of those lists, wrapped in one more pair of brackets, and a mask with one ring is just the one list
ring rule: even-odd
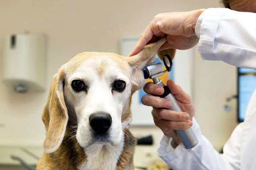
{"label": "thumb of the lower hand holding the otoscope", "polygon": [[180,88],[179,85],[175,84],[175,82],[171,79],[167,81],[167,86],[172,92],[172,94],[175,96],[175,99],[179,102],[183,103],[191,103],[191,99],[189,94],[187,94],[185,91],[183,91],[182,88]]}

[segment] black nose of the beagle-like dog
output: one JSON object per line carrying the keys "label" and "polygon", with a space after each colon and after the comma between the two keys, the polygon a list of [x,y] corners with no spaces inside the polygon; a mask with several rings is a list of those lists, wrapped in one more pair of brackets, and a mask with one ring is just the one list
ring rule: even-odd
{"label": "black nose of the beagle-like dog", "polygon": [[97,112],[90,115],[89,122],[96,133],[102,134],[111,127],[112,118],[108,113]]}

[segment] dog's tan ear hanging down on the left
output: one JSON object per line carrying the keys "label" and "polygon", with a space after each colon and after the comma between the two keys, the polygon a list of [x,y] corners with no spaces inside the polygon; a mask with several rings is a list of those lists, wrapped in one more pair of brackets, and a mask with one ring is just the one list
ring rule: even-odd
{"label": "dog's tan ear hanging down on the left", "polygon": [[66,131],[68,114],[63,94],[64,77],[64,68],[54,75],[48,101],[42,113],[42,120],[47,131],[44,139],[46,153],[52,153],[58,149]]}

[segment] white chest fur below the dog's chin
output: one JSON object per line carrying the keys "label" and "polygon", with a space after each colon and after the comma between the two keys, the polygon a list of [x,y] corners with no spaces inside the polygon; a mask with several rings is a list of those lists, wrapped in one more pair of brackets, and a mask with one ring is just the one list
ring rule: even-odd
{"label": "white chest fur below the dog's chin", "polygon": [[79,170],[116,170],[116,164],[122,153],[123,143],[116,146],[110,144],[95,144],[86,148],[87,160],[82,163]]}

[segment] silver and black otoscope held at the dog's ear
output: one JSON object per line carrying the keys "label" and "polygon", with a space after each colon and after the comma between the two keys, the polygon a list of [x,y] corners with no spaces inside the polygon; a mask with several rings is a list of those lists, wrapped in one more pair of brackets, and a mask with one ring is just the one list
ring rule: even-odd
{"label": "silver and black otoscope held at the dog's ear", "polygon": [[[164,93],[160,97],[171,100],[172,106],[169,108],[169,110],[182,112],[168,86],[164,85],[162,80],[158,78],[159,76],[171,71],[172,69],[172,59],[169,55],[163,56],[163,62],[166,66],[165,71],[163,71],[163,67],[160,62],[153,62],[143,68],[144,78],[153,79],[154,84],[161,85],[164,88]],[[198,139],[196,138],[195,133],[191,128],[186,130],[175,130],[175,132],[177,133],[177,136],[180,138],[186,149],[191,149],[198,144]]]}

